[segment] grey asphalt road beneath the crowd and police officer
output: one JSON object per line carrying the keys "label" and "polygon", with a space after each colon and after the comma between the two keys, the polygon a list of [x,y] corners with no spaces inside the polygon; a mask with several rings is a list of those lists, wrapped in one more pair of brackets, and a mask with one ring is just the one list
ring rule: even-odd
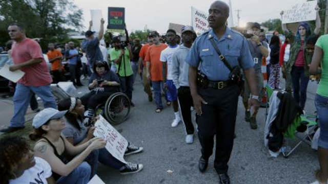
{"label": "grey asphalt road beneath the crowd and police officer", "polygon": [[[315,82],[309,83],[305,107],[308,113],[315,110],[316,88]],[[86,93],[87,87],[80,87],[78,91],[80,95]],[[120,175],[118,171],[100,164],[98,175],[105,183],[218,183],[218,176],[213,168],[213,155],[207,172],[202,174],[198,171],[200,145],[197,135],[194,136],[194,144],[187,145],[182,124],[171,128],[174,118],[171,106],[156,113],[155,103],[148,102],[140,80],[134,86],[133,102],[135,107],[132,108],[129,119],[116,128],[128,141],[144,147],[144,152],[125,157],[128,162],[144,164],[144,169],[139,173]],[[7,108],[0,107],[2,117],[8,116],[3,113]],[[241,99],[239,100],[237,137],[228,172],[232,183],[312,183],[315,180],[314,171],[319,167],[317,152],[303,144],[289,158],[270,157],[268,149],[263,145],[264,112],[265,109],[261,108],[258,114],[259,128],[251,130],[249,123],[243,120],[244,108]],[[2,122],[4,124],[8,122]],[[295,145],[296,141],[288,140],[288,144]]]}

